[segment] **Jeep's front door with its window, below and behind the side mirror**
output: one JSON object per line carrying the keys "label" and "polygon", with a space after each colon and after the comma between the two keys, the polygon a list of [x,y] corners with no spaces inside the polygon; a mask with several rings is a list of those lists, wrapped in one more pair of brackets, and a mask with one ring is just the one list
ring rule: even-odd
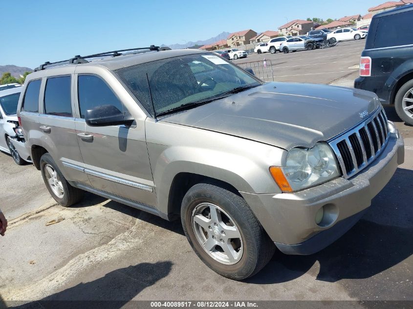
{"label": "Jeep's front door with its window, below and behind the side mirror", "polygon": [[90,183],[96,189],[156,206],[145,121],[136,120],[130,127],[87,125],[87,109],[111,104],[125,110],[108,83],[97,75],[77,76],[77,99],[79,118],[76,119],[76,133]]}

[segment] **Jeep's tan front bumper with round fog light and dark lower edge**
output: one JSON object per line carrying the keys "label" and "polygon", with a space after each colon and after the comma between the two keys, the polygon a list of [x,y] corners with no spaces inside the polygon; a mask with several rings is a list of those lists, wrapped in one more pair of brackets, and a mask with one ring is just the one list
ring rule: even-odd
{"label": "Jeep's tan front bumper with round fog light and dark lower edge", "polygon": [[[361,218],[403,162],[404,143],[396,132],[391,133],[380,156],[349,179],[340,177],[296,193],[241,194],[282,252],[312,254],[341,237]],[[331,222],[317,225],[315,217],[321,207]]]}

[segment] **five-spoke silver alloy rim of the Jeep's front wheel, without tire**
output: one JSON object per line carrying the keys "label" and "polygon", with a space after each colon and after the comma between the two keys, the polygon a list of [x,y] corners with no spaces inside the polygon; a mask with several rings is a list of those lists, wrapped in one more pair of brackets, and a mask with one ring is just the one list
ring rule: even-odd
{"label": "five-spoke silver alloy rim of the Jeep's front wheel, without tire", "polygon": [[216,261],[233,265],[243,253],[242,236],[234,220],[219,206],[201,203],[192,212],[196,240]]}

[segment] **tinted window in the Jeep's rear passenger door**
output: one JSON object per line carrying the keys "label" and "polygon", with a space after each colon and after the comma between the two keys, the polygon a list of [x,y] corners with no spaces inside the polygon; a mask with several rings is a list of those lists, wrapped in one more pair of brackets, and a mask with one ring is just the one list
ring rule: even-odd
{"label": "tinted window in the Jeep's rear passenger door", "polygon": [[47,79],[46,90],[44,91],[45,114],[72,117],[70,81],[70,76]]}

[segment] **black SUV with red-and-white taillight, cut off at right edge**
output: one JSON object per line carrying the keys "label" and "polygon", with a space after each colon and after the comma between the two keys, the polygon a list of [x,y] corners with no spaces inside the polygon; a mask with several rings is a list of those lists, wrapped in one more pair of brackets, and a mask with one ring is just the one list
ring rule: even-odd
{"label": "black SUV with red-and-white taillight, cut off at right edge", "polygon": [[373,91],[413,125],[413,4],[374,15],[354,88]]}

